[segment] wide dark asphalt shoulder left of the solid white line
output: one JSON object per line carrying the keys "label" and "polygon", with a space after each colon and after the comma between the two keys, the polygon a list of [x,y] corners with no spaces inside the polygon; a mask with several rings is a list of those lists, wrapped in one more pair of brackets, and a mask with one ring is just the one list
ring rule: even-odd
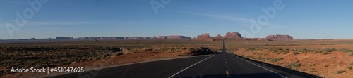
{"label": "wide dark asphalt shoulder left of the solid white line", "polygon": [[[211,55],[210,55],[211,56]],[[91,70],[83,73],[64,74],[49,78],[167,78],[172,74],[198,63],[209,56],[160,60],[136,63],[102,70]]]}

